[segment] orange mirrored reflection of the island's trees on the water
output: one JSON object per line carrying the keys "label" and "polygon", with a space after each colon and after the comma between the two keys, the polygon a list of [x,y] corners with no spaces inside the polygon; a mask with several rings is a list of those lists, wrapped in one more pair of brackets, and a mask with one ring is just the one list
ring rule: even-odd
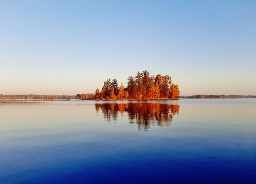
{"label": "orange mirrored reflection of the island's trees on the water", "polygon": [[131,104],[95,104],[96,111],[102,110],[104,117],[116,120],[118,113],[128,113],[131,124],[137,123],[139,129],[149,129],[151,125],[170,126],[173,116],[179,114],[180,105],[173,104],[150,104],[150,103],[131,103]]}

